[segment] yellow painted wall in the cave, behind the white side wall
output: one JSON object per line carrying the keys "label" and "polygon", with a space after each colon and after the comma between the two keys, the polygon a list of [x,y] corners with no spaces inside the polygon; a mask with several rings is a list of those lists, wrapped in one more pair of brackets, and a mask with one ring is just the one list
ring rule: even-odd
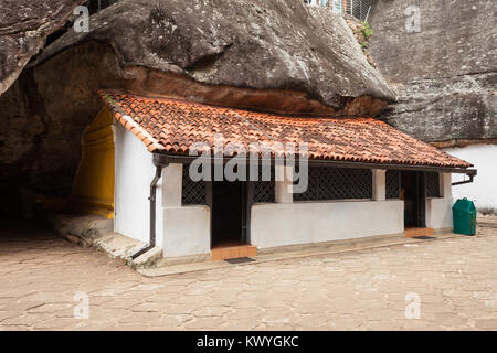
{"label": "yellow painted wall in the cave, behind the white side wall", "polygon": [[71,205],[78,211],[114,217],[113,117],[101,110],[83,135],[83,154],[74,179]]}

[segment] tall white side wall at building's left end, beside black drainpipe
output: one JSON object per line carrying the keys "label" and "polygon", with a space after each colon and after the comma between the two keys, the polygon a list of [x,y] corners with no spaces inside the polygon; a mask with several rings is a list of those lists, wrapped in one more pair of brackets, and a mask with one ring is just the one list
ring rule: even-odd
{"label": "tall white side wall at building's left end, beside black drainpipe", "polygon": [[[120,124],[115,125],[115,214],[114,231],[148,243],[150,182],[156,173],[152,156],[135,135]],[[162,246],[162,179],[157,184],[157,246]]]}

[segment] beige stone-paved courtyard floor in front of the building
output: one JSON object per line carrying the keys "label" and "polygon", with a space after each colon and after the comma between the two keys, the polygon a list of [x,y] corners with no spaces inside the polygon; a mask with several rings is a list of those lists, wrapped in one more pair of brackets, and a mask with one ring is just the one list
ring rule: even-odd
{"label": "beige stone-paved courtyard floor in front of the building", "polygon": [[17,228],[0,235],[0,330],[497,330],[497,228],[158,278]]}

